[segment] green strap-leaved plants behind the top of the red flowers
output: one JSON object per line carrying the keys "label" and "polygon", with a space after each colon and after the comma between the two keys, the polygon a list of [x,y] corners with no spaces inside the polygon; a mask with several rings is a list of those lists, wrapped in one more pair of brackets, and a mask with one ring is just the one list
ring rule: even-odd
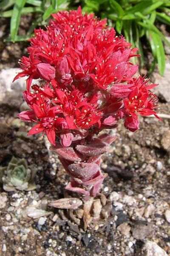
{"label": "green strap-leaved plants behind the top of the red flowers", "polygon": [[[153,61],[150,72],[158,64],[163,76],[165,68],[164,44],[170,42],[158,29],[157,24],[170,26],[170,0],[0,0],[0,17],[11,18],[10,37],[6,41],[28,40],[34,28],[48,24],[51,13],[63,9],[77,9],[95,13],[97,17],[107,18],[108,26],[113,26],[118,34],[125,36],[133,47],[138,47],[141,65],[144,64],[142,40],[150,44]],[[34,13],[34,22],[26,35],[18,35],[20,17]]]}

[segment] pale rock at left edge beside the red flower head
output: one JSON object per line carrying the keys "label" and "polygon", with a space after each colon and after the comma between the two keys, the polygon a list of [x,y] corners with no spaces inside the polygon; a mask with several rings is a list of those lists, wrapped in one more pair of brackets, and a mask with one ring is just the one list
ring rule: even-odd
{"label": "pale rock at left edge beside the red flower head", "polygon": [[19,108],[23,102],[23,90],[26,90],[26,77],[12,82],[18,68],[3,69],[0,72],[0,105],[6,104],[11,108]]}

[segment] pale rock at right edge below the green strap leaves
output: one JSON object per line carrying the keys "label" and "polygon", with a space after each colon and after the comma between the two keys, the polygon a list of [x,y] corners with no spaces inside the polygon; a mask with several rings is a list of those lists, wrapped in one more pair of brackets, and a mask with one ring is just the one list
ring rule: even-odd
{"label": "pale rock at right edge below the green strap leaves", "polygon": [[167,59],[165,64],[164,76],[159,73],[153,73],[153,81],[159,84],[154,87],[152,91],[166,102],[170,102],[170,58]]}

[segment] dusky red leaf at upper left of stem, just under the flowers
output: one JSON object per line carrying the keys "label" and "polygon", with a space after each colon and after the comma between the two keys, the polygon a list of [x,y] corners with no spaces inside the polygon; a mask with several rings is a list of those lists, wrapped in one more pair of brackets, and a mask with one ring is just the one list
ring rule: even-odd
{"label": "dusky red leaf at upper left of stem, just under the flowers", "polygon": [[59,155],[59,157],[72,162],[80,162],[84,159],[84,157],[82,157],[79,152],[74,150],[74,148],[64,148],[60,143],[56,143],[56,146],[51,146],[50,149],[53,149]]}

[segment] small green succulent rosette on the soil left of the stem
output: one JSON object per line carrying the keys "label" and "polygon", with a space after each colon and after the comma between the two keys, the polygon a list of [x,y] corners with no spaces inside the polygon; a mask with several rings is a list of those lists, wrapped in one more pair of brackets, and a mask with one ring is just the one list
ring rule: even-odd
{"label": "small green succulent rosette on the soil left of the stem", "polygon": [[0,169],[0,182],[3,183],[3,189],[10,192],[18,190],[33,190],[36,188],[34,177],[37,169],[29,169],[27,161],[12,157],[8,166]]}

